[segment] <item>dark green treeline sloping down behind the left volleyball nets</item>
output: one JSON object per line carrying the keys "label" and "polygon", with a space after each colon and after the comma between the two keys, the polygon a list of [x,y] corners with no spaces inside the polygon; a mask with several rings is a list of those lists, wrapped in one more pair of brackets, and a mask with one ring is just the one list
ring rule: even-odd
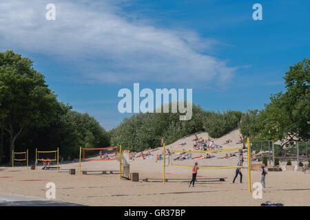
{"label": "dark green treeline sloping down behind the left volleyball nets", "polygon": [[108,146],[110,136],[87,113],[56,99],[32,61],[12,51],[0,52],[0,164],[12,161],[12,150],[54,151],[64,159],[79,157],[79,146]]}

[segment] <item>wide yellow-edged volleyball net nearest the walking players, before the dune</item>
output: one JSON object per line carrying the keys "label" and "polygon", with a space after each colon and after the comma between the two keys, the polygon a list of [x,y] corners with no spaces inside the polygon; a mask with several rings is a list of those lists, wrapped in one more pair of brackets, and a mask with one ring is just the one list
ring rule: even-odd
{"label": "wide yellow-edged volleyball net nearest the walking players, before the dune", "polygon": [[242,148],[226,148],[210,151],[171,150],[168,166],[192,168],[198,162],[200,169],[241,168]]}

